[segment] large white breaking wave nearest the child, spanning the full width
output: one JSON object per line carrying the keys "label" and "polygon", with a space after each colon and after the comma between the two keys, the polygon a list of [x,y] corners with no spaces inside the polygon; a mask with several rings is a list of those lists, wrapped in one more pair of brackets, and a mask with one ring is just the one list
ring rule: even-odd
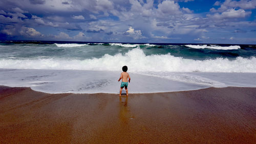
{"label": "large white breaking wave nearest the child, spanning the full width", "polygon": [[128,66],[130,72],[253,72],[256,73],[256,58],[237,57],[194,60],[165,55],[145,55],[139,48],[114,56],[105,54],[101,58],[64,59],[30,58],[0,59],[0,68],[4,69],[55,69],[55,70],[97,70],[119,71]]}

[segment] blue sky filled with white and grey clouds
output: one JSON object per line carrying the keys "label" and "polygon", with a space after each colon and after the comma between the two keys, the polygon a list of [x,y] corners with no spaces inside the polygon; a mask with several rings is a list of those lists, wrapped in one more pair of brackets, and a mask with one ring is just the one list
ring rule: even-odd
{"label": "blue sky filled with white and grey clouds", "polygon": [[3,0],[0,39],[256,44],[256,0]]}

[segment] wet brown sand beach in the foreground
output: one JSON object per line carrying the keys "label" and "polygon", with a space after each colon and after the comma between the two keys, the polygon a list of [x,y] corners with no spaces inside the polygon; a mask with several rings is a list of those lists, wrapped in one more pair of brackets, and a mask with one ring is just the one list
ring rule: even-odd
{"label": "wet brown sand beach in the foreground", "polygon": [[47,94],[0,87],[0,143],[255,143],[256,88]]}

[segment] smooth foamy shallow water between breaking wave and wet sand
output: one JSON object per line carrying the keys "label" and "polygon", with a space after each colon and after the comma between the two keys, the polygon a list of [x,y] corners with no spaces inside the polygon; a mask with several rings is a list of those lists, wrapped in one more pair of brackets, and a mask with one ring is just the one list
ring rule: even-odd
{"label": "smooth foamy shallow water between breaking wave and wet sand", "polygon": [[[0,85],[47,93],[119,93],[121,71],[0,69]],[[129,93],[256,87],[255,73],[169,73],[167,77],[130,73]]]}

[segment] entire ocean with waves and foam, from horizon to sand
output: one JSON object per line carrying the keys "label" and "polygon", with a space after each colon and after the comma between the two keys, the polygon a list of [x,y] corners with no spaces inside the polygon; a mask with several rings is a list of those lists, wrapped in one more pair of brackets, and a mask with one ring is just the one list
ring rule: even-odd
{"label": "entire ocean with waves and foam, from horizon to sand", "polygon": [[256,87],[256,46],[0,42],[0,85],[48,93],[118,93],[122,66],[130,93]]}

